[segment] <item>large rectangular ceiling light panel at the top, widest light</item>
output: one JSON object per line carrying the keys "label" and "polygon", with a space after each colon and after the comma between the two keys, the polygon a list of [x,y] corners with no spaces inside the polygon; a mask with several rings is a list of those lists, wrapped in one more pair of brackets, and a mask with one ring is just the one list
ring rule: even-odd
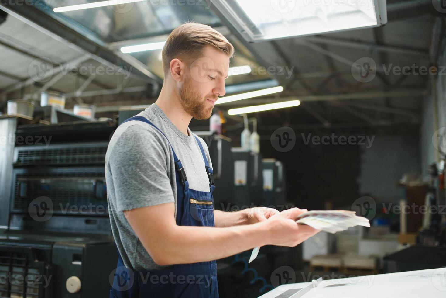
{"label": "large rectangular ceiling light panel at the top, widest light", "polygon": [[213,0],[248,41],[314,35],[387,23],[386,0]]}

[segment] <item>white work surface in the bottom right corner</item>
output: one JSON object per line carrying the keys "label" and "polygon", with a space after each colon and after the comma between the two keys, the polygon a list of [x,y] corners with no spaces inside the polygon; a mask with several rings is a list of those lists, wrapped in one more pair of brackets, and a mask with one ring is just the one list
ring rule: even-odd
{"label": "white work surface in the bottom right corner", "polygon": [[[278,286],[259,298],[289,298],[311,282]],[[289,291],[289,292],[287,292]],[[285,292],[287,292],[285,294]],[[322,281],[303,298],[445,298],[446,268],[347,277]]]}

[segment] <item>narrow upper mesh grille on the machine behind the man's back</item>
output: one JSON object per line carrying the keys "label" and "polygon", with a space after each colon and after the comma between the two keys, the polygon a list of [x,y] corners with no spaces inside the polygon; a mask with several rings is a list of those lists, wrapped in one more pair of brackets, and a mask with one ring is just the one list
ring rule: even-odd
{"label": "narrow upper mesh grille on the machine behind the man's back", "polygon": [[16,165],[66,165],[105,163],[107,145],[75,146],[57,149],[20,150]]}

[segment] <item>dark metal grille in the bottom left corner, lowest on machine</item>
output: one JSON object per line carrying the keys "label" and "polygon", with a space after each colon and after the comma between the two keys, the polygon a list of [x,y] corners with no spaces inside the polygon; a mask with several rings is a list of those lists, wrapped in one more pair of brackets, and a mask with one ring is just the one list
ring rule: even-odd
{"label": "dark metal grille in the bottom left corner, lowest on machine", "polygon": [[24,253],[0,252],[0,298],[38,298],[40,287],[49,286],[49,279],[29,267],[29,261]]}

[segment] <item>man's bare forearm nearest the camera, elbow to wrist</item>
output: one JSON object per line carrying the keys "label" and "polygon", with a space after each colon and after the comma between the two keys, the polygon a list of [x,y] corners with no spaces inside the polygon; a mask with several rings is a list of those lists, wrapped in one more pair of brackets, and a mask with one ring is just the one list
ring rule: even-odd
{"label": "man's bare forearm nearest the camera, elbow to wrist", "polygon": [[154,260],[159,265],[217,260],[268,244],[267,233],[264,222],[228,228],[176,226],[159,242]]}

